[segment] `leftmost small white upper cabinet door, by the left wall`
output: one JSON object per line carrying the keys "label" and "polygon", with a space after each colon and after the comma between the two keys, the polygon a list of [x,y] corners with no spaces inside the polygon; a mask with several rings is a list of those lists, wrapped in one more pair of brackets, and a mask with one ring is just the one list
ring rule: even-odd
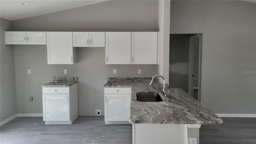
{"label": "leftmost small white upper cabinet door, by the left wall", "polygon": [[4,32],[5,44],[27,44],[26,32]]}

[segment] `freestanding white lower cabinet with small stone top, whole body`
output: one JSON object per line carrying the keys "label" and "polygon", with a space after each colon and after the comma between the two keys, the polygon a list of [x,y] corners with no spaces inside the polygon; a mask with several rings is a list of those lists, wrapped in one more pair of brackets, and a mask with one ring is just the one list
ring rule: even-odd
{"label": "freestanding white lower cabinet with small stone top, whole body", "polygon": [[72,124],[78,117],[77,83],[70,87],[43,87],[45,124]]}

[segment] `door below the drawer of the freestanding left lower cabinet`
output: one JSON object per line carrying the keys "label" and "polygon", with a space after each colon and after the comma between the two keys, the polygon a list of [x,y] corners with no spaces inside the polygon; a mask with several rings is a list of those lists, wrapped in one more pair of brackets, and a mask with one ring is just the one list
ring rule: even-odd
{"label": "door below the drawer of the freestanding left lower cabinet", "polygon": [[44,121],[70,121],[69,94],[43,94]]}

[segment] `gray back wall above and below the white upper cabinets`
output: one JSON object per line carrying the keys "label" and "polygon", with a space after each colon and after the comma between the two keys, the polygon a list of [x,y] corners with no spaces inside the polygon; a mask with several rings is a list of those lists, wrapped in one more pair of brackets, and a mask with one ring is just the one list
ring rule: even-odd
{"label": "gray back wall above and below the white upper cabinets", "polygon": [[[107,1],[13,22],[20,31],[157,31],[158,1]],[[77,48],[77,64],[47,64],[46,46],[14,46],[18,113],[42,113],[41,84],[53,76],[77,76],[79,115],[104,110],[107,77],[152,77],[157,65],[106,65],[105,48]],[[113,69],[117,74],[113,74]],[[142,74],[138,74],[138,68]],[[31,69],[32,74],[27,74]],[[68,74],[64,74],[64,69]],[[28,97],[34,96],[29,102]],[[104,114],[104,112],[103,112]]]}

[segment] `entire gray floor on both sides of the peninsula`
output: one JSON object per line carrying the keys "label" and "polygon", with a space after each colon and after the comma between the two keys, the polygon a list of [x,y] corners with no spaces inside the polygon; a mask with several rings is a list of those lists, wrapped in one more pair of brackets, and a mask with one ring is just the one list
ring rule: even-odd
{"label": "entire gray floor on both sides of the peninsula", "polygon": [[[222,118],[202,125],[200,144],[256,144],[256,118]],[[132,125],[104,124],[104,117],[78,117],[72,125],[44,125],[41,117],[20,117],[1,126],[1,144],[131,144]]]}

